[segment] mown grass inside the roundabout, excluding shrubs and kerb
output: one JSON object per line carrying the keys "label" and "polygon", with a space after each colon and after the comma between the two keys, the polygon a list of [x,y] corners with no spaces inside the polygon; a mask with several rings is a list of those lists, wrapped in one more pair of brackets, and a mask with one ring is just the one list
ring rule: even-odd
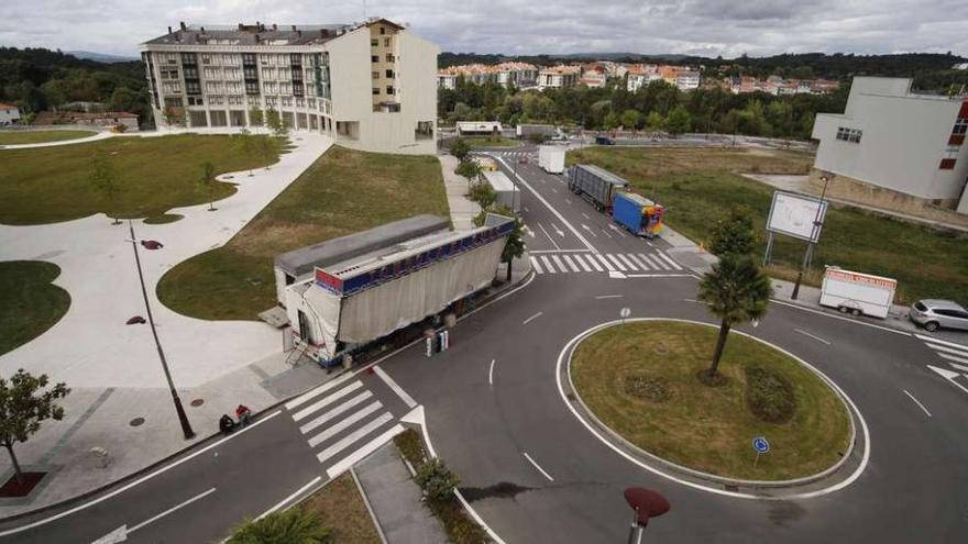
{"label": "mown grass inside the roundabout, excluding shrubs and kerb", "polygon": [[[850,423],[844,403],[815,374],[776,349],[730,334],[719,364],[725,385],[696,374],[710,365],[718,330],[670,321],[613,326],[579,344],[571,376],[582,401],[609,429],[662,458],[721,476],[779,480],[816,474],[846,452]],[[746,369],[765,368],[792,385],[795,408],[785,423],[767,423],[747,404]],[[629,380],[649,395],[630,392]],[[650,389],[651,388],[651,389]],[[656,400],[658,399],[658,400]],[[751,441],[770,453],[754,468]]]}

